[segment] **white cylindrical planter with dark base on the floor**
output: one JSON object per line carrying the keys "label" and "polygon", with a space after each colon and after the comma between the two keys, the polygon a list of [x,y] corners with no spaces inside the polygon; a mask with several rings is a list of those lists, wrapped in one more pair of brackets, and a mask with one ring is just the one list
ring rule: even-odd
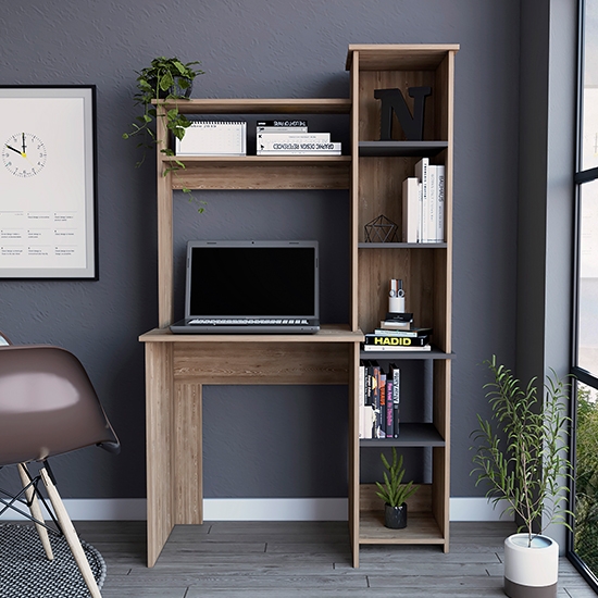
{"label": "white cylindrical planter with dark base on the floor", "polygon": [[504,594],[510,598],[556,598],[559,576],[559,545],[547,536],[527,534],[504,540]]}

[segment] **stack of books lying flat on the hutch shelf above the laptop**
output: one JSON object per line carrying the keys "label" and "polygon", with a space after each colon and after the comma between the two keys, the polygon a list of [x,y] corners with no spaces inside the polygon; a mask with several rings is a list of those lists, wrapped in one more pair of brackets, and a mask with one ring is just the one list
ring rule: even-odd
{"label": "stack of books lying flat on the hutch shelf above the laptop", "polygon": [[308,121],[258,121],[258,155],[340,155],[329,133],[309,133]]}

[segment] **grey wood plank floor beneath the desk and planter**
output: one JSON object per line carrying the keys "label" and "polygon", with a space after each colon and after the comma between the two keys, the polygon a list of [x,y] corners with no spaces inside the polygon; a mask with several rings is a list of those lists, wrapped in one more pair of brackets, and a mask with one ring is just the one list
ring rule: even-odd
{"label": "grey wood plank floor beneath the desk and planter", "polygon": [[[214,522],[176,526],[157,564],[145,522],[75,522],[103,556],[103,598],[472,598],[503,596],[511,524],[453,523],[451,549],[362,546],[351,566],[344,522]],[[561,559],[559,598],[596,594]]]}

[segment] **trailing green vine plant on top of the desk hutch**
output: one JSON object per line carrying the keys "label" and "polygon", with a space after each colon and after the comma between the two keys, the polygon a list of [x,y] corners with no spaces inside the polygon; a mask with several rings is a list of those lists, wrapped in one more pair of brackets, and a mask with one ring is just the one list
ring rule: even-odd
{"label": "trailing green vine plant on top of the desk hutch", "polygon": [[[163,139],[157,139],[155,132],[151,125],[159,116],[153,100],[188,100],[191,94],[194,79],[202,75],[203,71],[196,68],[200,64],[198,61],[182,62],[178,58],[158,57],[151,61],[150,66],[142,68],[137,76],[137,92],[133,97],[135,105],[142,105],[144,113],[137,116],[133,123],[132,129],[123,134],[124,139],[129,139],[137,135],[142,136],[138,147],[144,148],[144,154],[136,166],[140,166],[146,158],[146,151],[155,144],[162,144],[160,150],[166,155],[174,155],[174,152],[166,147]],[[185,137],[186,128],[191,124],[190,121],[178,112],[175,105],[171,108],[164,116],[166,119],[166,128],[177,139]],[[178,167],[184,165],[178,164]]]}

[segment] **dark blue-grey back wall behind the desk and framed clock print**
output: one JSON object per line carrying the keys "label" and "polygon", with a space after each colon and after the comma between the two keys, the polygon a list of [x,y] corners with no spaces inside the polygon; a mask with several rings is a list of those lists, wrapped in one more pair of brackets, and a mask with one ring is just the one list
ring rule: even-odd
{"label": "dark blue-grey back wall behind the desk and framed clock print", "polygon": [[[0,83],[98,88],[98,282],[0,282],[0,329],[53,342],[87,366],[123,452],[57,459],[72,497],[145,496],[144,354],[157,324],[154,162],[121,139],[135,71],[159,54],[199,59],[194,97],[348,97],[349,43],[459,42],[454,98],[453,496],[474,496],[469,433],[485,411],[478,364],[514,360],[519,0],[265,0],[2,5]],[[177,199],[187,238],[317,238],[327,321],[347,317],[345,194],[202,194]],[[1,190],[0,190],[1,201]],[[179,308],[180,309],[180,302]],[[207,496],[346,496],[345,388],[205,393]],[[271,433],[271,431],[273,431]]]}

